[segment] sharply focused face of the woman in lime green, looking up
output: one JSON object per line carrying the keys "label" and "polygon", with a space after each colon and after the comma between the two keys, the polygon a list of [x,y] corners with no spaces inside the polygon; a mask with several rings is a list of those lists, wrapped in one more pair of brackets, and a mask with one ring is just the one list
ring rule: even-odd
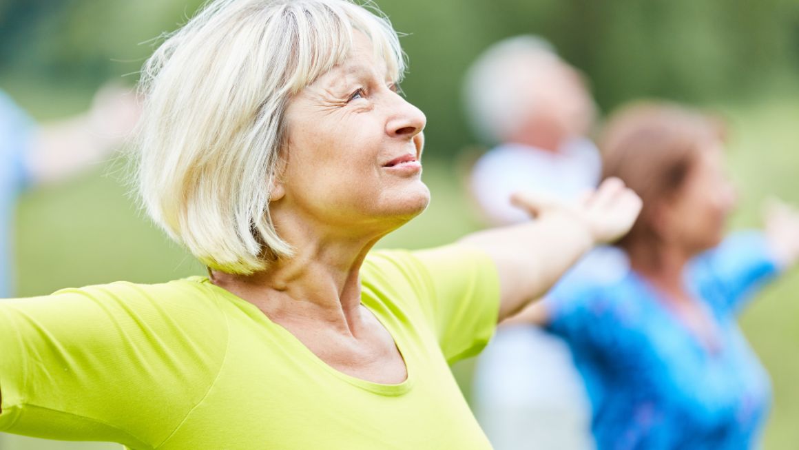
{"label": "sharply focused face of the woman in lime green, looking up", "polygon": [[356,32],[352,54],[288,105],[288,161],[278,208],[306,223],[376,230],[421,213],[426,118],[397,94],[372,42]]}

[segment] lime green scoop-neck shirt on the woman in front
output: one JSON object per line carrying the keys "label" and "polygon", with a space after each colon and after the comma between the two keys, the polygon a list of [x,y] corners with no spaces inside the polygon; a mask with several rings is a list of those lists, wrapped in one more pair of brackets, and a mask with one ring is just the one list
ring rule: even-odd
{"label": "lime green scoop-neck shirt on the woman in front", "polygon": [[336,371],[205,277],[0,301],[0,431],[137,450],[491,448],[447,364],[493,333],[492,261],[380,251],[361,283],[403,383]]}

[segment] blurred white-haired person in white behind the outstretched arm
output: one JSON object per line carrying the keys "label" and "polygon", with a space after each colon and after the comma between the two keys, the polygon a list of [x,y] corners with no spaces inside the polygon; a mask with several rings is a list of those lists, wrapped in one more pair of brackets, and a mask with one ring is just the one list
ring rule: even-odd
{"label": "blurred white-haired person in white behind the outstretched arm", "polygon": [[[522,35],[495,43],[467,71],[463,94],[475,133],[495,145],[469,179],[490,225],[526,220],[508,200],[520,189],[574,201],[598,184],[601,158],[586,138],[594,101],[549,42]],[[597,249],[562,285],[611,279],[625,266],[618,250]],[[500,328],[475,372],[476,413],[491,443],[498,450],[591,448],[590,404],[569,348],[512,322]]]}

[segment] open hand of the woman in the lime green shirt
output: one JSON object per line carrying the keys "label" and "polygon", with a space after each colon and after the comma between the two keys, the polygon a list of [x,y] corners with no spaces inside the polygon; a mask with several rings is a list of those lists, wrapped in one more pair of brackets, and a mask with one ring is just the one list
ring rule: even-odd
{"label": "open hand of the woman in the lime green shirt", "polygon": [[642,206],[641,198],[618,178],[608,178],[576,203],[534,193],[516,193],[511,202],[533,217],[559,213],[573,218],[586,228],[594,245],[616,241],[629,232]]}

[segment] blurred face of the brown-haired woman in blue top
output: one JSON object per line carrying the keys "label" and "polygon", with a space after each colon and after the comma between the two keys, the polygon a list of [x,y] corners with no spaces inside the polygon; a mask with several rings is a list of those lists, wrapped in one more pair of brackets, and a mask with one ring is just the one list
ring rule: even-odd
{"label": "blurred face of the brown-haired woman in blue top", "polygon": [[736,193],[725,175],[724,150],[713,142],[698,152],[685,184],[666,205],[666,237],[694,255],[721,243]]}

